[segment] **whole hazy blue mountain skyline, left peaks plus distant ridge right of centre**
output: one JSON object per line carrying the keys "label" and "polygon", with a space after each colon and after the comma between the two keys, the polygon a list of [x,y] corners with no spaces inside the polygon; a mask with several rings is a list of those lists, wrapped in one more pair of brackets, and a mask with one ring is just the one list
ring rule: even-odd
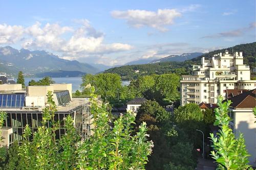
{"label": "whole hazy blue mountain skyline, left peaks plus distant ridge right of centre", "polygon": [[[148,58],[131,61],[124,65],[158,63],[165,61],[185,61],[198,57],[203,53],[186,53],[171,55],[162,59]],[[120,66],[120,65],[118,65]],[[97,74],[117,66],[106,66],[95,63],[81,63],[76,60],[61,59],[46,51],[30,51],[22,48],[16,50],[11,46],[0,47],[0,72],[16,75],[23,71],[25,75],[36,77],[73,77],[84,74]]]}

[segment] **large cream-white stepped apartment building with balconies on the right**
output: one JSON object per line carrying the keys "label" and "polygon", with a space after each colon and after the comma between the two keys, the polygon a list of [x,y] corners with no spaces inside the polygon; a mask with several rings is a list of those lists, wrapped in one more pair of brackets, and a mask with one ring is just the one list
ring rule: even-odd
{"label": "large cream-white stepped apartment building with balconies on the right", "polygon": [[190,75],[183,75],[181,105],[187,103],[217,103],[218,95],[226,96],[227,89],[254,89],[256,81],[250,80],[250,67],[243,63],[243,53],[219,53],[201,65],[193,65]]}

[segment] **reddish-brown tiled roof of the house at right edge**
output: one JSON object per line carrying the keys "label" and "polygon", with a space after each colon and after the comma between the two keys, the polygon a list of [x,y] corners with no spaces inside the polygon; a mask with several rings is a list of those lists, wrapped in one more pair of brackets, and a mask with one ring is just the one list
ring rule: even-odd
{"label": "reddish-brown tiled roof of the house at right edge", "polygon": [[[249,90],[249,91],[243,92],[239,95],[233,96],[232,98],[228,99],[232,102],[230,107],[254,108],[256,106],[255,96],[256,96],[256,89]],[[224,100],[223,102],[226,102],[226,101],[227,101],[227,99]]]}

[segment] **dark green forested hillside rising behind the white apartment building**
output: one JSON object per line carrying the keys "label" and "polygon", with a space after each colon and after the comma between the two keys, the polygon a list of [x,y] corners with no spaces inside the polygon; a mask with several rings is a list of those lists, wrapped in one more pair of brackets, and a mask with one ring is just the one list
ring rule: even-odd
{"label": "dark green forested hillside rising behind the white apartment building", "polygon": [[[244,64],[250,65],[251,69],[256,67],[256,42],[236,45],[229,48],[223,48],[222,50],[205,53],[202,56],[208,58],[214,54],[218,54],[221,52],[224,53],[225,50],[228,50],[229,53],[232,53],[232,51],[243,52]],[[152,74],[161,75],[171,72],[180,75],[188,73],[192,64],[200,64],[200,58],[202,56],[184,62],[161,62],[153,64],[125,65],[121,67],[110,68],[108,70],[105,70],[104,72],[116,73],[121,76],[122,80],[134,80],[140,76]],[[253,75],[254,74],[252,74],[252,76]]]}

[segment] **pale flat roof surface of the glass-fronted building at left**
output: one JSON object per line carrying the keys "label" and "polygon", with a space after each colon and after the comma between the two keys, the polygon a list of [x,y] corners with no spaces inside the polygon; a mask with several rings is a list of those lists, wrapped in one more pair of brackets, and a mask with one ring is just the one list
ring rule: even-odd
{"label": "pale flat roof surface of the glass-fronted building at left", "polygon": [[[89,99],[86,98],[73,98],[73,100],[68,103],[66,106],[57,106],[57,112],[69,112],[73,109],[88,104]],[[19,108],[0,108],[0,111],[6,112],[42,112],[42,107],[23,107],[22,109]]]}

